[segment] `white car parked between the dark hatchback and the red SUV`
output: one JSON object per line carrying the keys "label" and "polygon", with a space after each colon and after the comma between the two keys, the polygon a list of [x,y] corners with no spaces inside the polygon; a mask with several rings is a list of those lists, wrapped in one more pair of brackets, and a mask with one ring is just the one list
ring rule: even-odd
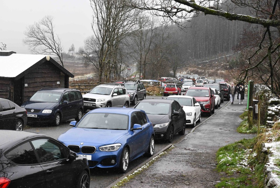
{"label": "white car parked between the dark hatchback and the red SUV", "polygon": [[196,126],[201,119],[201,107],[194,97],[185,95],[168,96],[166,99],[176,100],[186,113],[186,125]]}

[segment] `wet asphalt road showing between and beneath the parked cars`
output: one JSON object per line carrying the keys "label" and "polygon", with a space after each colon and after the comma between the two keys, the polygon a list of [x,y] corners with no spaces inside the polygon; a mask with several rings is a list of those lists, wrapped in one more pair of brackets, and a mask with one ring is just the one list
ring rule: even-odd
{"label": "wet asphalt road showing between and beneath the parked cars", "polygon": [[[147,96],[147,99],[152,99],[152,98],[157,98],[160,99],[162,97],[160,96]],[[221,103],[221,107],[223,107],[227,101],[224,103]],[[133,107],[131,105],[130,107]],[[220,109],[219,107],[218,109]],[[217,110],[218,110],[217,109]],[[207,115],[202,115],[201,116],[201,122],[207,119]],[[29,131],[29,132],[34,132],[34,133],[41,133],[41,134],[46,134],[51,137],[54,137],[57,139],[62,133],[65,133],[67,130],[72,128],[69,126],[69,123],[71,121],[74,121],[74,119],[64,121],[60,124],[60,126],[53,127],[53,126],[47,126],[47,125],[42,125],[42,126],[27,126],[24,130]],[[197,123],[198,125],[199,123]],[[191,127],[186,128],[185,135],[187,135],[190,131],[192,130]],[[185,137],[185,135],[174,135],[172,143],[178,143],[180,140]],[[155,142],[155,153],[159,152],[161,149],[166,147],[169,143],[167,142]],[[129,164],[129,169],[128,171],[132,170],[134,167],[138,166],[142,162],[144,162],[147,158],[144,156],[139,157],[138,159],[135,159],[134,161],[130,162]],[[95,168],[91,170],[91,175],[90,175],[90,187],[107,187],[111,183],[113,183],[115,180],[120,178],[123,174],[118,173],[114,169],[100,169],[100,168]]]}

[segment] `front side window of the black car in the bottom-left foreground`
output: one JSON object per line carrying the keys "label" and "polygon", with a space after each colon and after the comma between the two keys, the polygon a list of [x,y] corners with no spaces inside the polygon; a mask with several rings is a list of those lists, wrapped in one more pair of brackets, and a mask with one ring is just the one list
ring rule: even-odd
{"label": "front side window of the black car in the bottom-left foreground", "polygon": [[35,151],[41,163],[65,159],[63,146],[49,139],[32,140]]}

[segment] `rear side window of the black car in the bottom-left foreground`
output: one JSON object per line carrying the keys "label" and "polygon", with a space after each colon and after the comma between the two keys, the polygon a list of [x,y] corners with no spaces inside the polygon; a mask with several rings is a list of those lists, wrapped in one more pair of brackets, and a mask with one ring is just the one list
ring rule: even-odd
{"label": "rear side window of the black car in the bottom-left foreground", "polygon": [[35,152],[29,142],[8,151],[6,157],[16,164],[38,164]]}

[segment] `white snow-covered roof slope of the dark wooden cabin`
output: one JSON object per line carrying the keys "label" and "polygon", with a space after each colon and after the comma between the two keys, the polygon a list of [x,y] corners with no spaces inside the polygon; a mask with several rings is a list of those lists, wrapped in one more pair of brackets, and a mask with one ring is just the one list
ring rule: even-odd
{"label": "white snow-covered roof slope of the dark wooden cabin", "polygon": [[16,77],[46,56],[18,53],[0,56],[0,77]]}

